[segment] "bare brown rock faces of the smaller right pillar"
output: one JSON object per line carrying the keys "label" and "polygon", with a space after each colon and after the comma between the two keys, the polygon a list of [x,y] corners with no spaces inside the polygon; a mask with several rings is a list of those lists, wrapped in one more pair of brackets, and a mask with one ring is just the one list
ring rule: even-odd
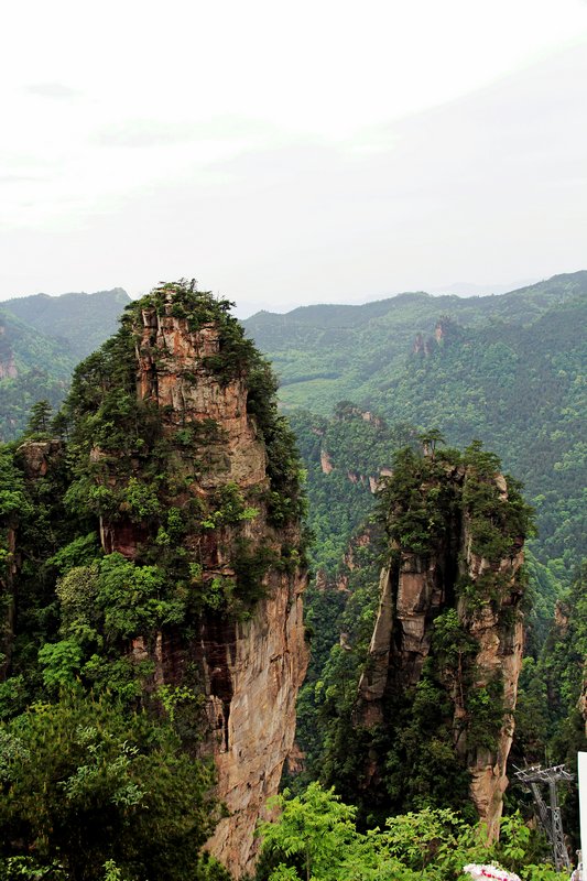
{"label": "bare brown rock faces of the smaller right pillar", "polygon": [[[449,481],[460,492],[467,478],[467,469],[459,467],[453,469]],[[493,481],[496,496],[507,503],[504,479],[496,475]],[[490,562],[475,553],[474,545],[471,518],[465,509],[453,511],[430,553],[415,554],[398,543],[392,548],[392,563],[381,573],[379,612],[359,684],[356,724],[369,729],[390,722],[395,697],[420,682],[433,651],[434,621],[455,610],[475,648],[469,656],[459,656],[458,664],[441,671],[453,707],[453,747],[470,773],[469,794],[479,817],[497,838],[522,663],[523,619],[518,605],[523,552],[518,540],[507,556]],[[488,686],[500,694],[490,710],[499,728],[490,748],[470,733],[467,699]],[[378,761],[371,755],[367,786],[378,774]]]}

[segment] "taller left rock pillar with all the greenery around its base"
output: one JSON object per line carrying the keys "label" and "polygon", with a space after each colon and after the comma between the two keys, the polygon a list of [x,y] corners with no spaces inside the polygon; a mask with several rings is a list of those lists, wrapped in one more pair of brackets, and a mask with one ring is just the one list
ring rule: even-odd
{"label": "taller left rock pillar with all the greenery around its base", "polygon": [[0,448],[2,881],[222,881],[213,833],[237,877],[254,858],[306,573],[294,438],[229,306],[132,303],[59,436]]}

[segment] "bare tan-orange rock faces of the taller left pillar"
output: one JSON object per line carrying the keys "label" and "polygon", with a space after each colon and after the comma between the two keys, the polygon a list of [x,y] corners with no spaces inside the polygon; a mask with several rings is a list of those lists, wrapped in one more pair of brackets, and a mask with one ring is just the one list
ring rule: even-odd
{"label": "bare tan-orange rock faces of the taller left pillar", "polygon": [[[182,426],[214,421],[217,448],[205,450],[209,463],[194,479],[193,494],[205,499],[231,482],[244,497],[257,492],[261,498],[269,488],[267,454],[247,413],[246,376],[219,382],[206,361],[219,352],[217,326],[210,323],[191,330],[185,319],[172,314],[171,300],[165,312],[142,313],[137,345],[140,396],[156,402],[170,437]],[[297,525],[276,531],[267,521],[263,503],[253,504],[258,516],[240,530],[252,546],[279,554],[284,542],[298,543]],[[200,547],[205,578],[235,574],[226,550],[233,540],[230,530],[221,539],[213,533]],[[236,878],[253,868],[254,828],[267,800],[278,792],[292,749],[297,690],[307,666],[302,609],[305,572],[270,568],[263,584],[265,597],[249,620],[221,622],[204,616],[199,645],[189,650],[203,670],[209,718],[206,748],[215,755],[217,794],[229,812],[207,847]],[[173,678],[176,660],[165,656],[165,637],[162,653],[163,675]]]}

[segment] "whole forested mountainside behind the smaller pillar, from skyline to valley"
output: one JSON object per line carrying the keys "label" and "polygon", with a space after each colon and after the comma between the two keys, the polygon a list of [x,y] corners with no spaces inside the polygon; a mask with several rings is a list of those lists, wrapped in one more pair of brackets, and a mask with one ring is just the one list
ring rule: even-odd
{"label": "whole forested mountainside behind the smaller pillar, from skyline to valley", "polygon": [[[526,483],[536,510],[539,534],[526,547],[526,657],[514,761],[574,768],[576,750],[585,749],[578,700],[587,656],[579,568],[586,546],[586,273],[557,276],[469,301],[401,295],[365,307],[261,314],[247,323],[281,373],[280,394],[307,468],[317,577],[307,595],[312,661],[298,704],[306,781],[318,776],[340,787],[360,773],[348,748],[357,738],[349,720],[369,665],[384,546],[372,522],[373,491],[392,470],[395,450],[406,444],[417,450],[418,435],[431,427],[448,443],[480,438],[499,453]],[[425,721],[425,698],[422,693],[415,713],[426,726],[437,714]],[[439,706],[436,698],[428,709],[433,705]],[[401,736],[404,744],[409,739]],[[369,750],[372,757],[373,747],[363,744],[362,754]],[[422,781],[432,765],[418,761],[430,803],[430,781]],[[405,757],[400,764],[405,796]],[[363,803],[362,784],[351,784],[346,796]],[[508,797],[530,815],[520,786]],[[563,801],[566,828],[576,833],[576,794],[566,791]]]}

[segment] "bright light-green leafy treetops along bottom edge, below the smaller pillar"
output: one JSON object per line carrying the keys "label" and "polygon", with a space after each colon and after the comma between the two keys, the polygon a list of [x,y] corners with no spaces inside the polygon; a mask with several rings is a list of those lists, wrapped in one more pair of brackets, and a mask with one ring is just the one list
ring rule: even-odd
{"label": "bright light-green leafy treetops along bottom edge, below the smaller pillar", "polygon": [[316,783],[300,796],[285,791],[276,804],[280,817],[259,830],[258,881],[452,881],[470,877],[463,869],[471,862],[497,862],[523,881],[559,878],[535,864],[535,841],[519,815],[502,822],[500,842],[489,846],[482,827],[449,809],[411,812],[360,831],[356,808]]}

